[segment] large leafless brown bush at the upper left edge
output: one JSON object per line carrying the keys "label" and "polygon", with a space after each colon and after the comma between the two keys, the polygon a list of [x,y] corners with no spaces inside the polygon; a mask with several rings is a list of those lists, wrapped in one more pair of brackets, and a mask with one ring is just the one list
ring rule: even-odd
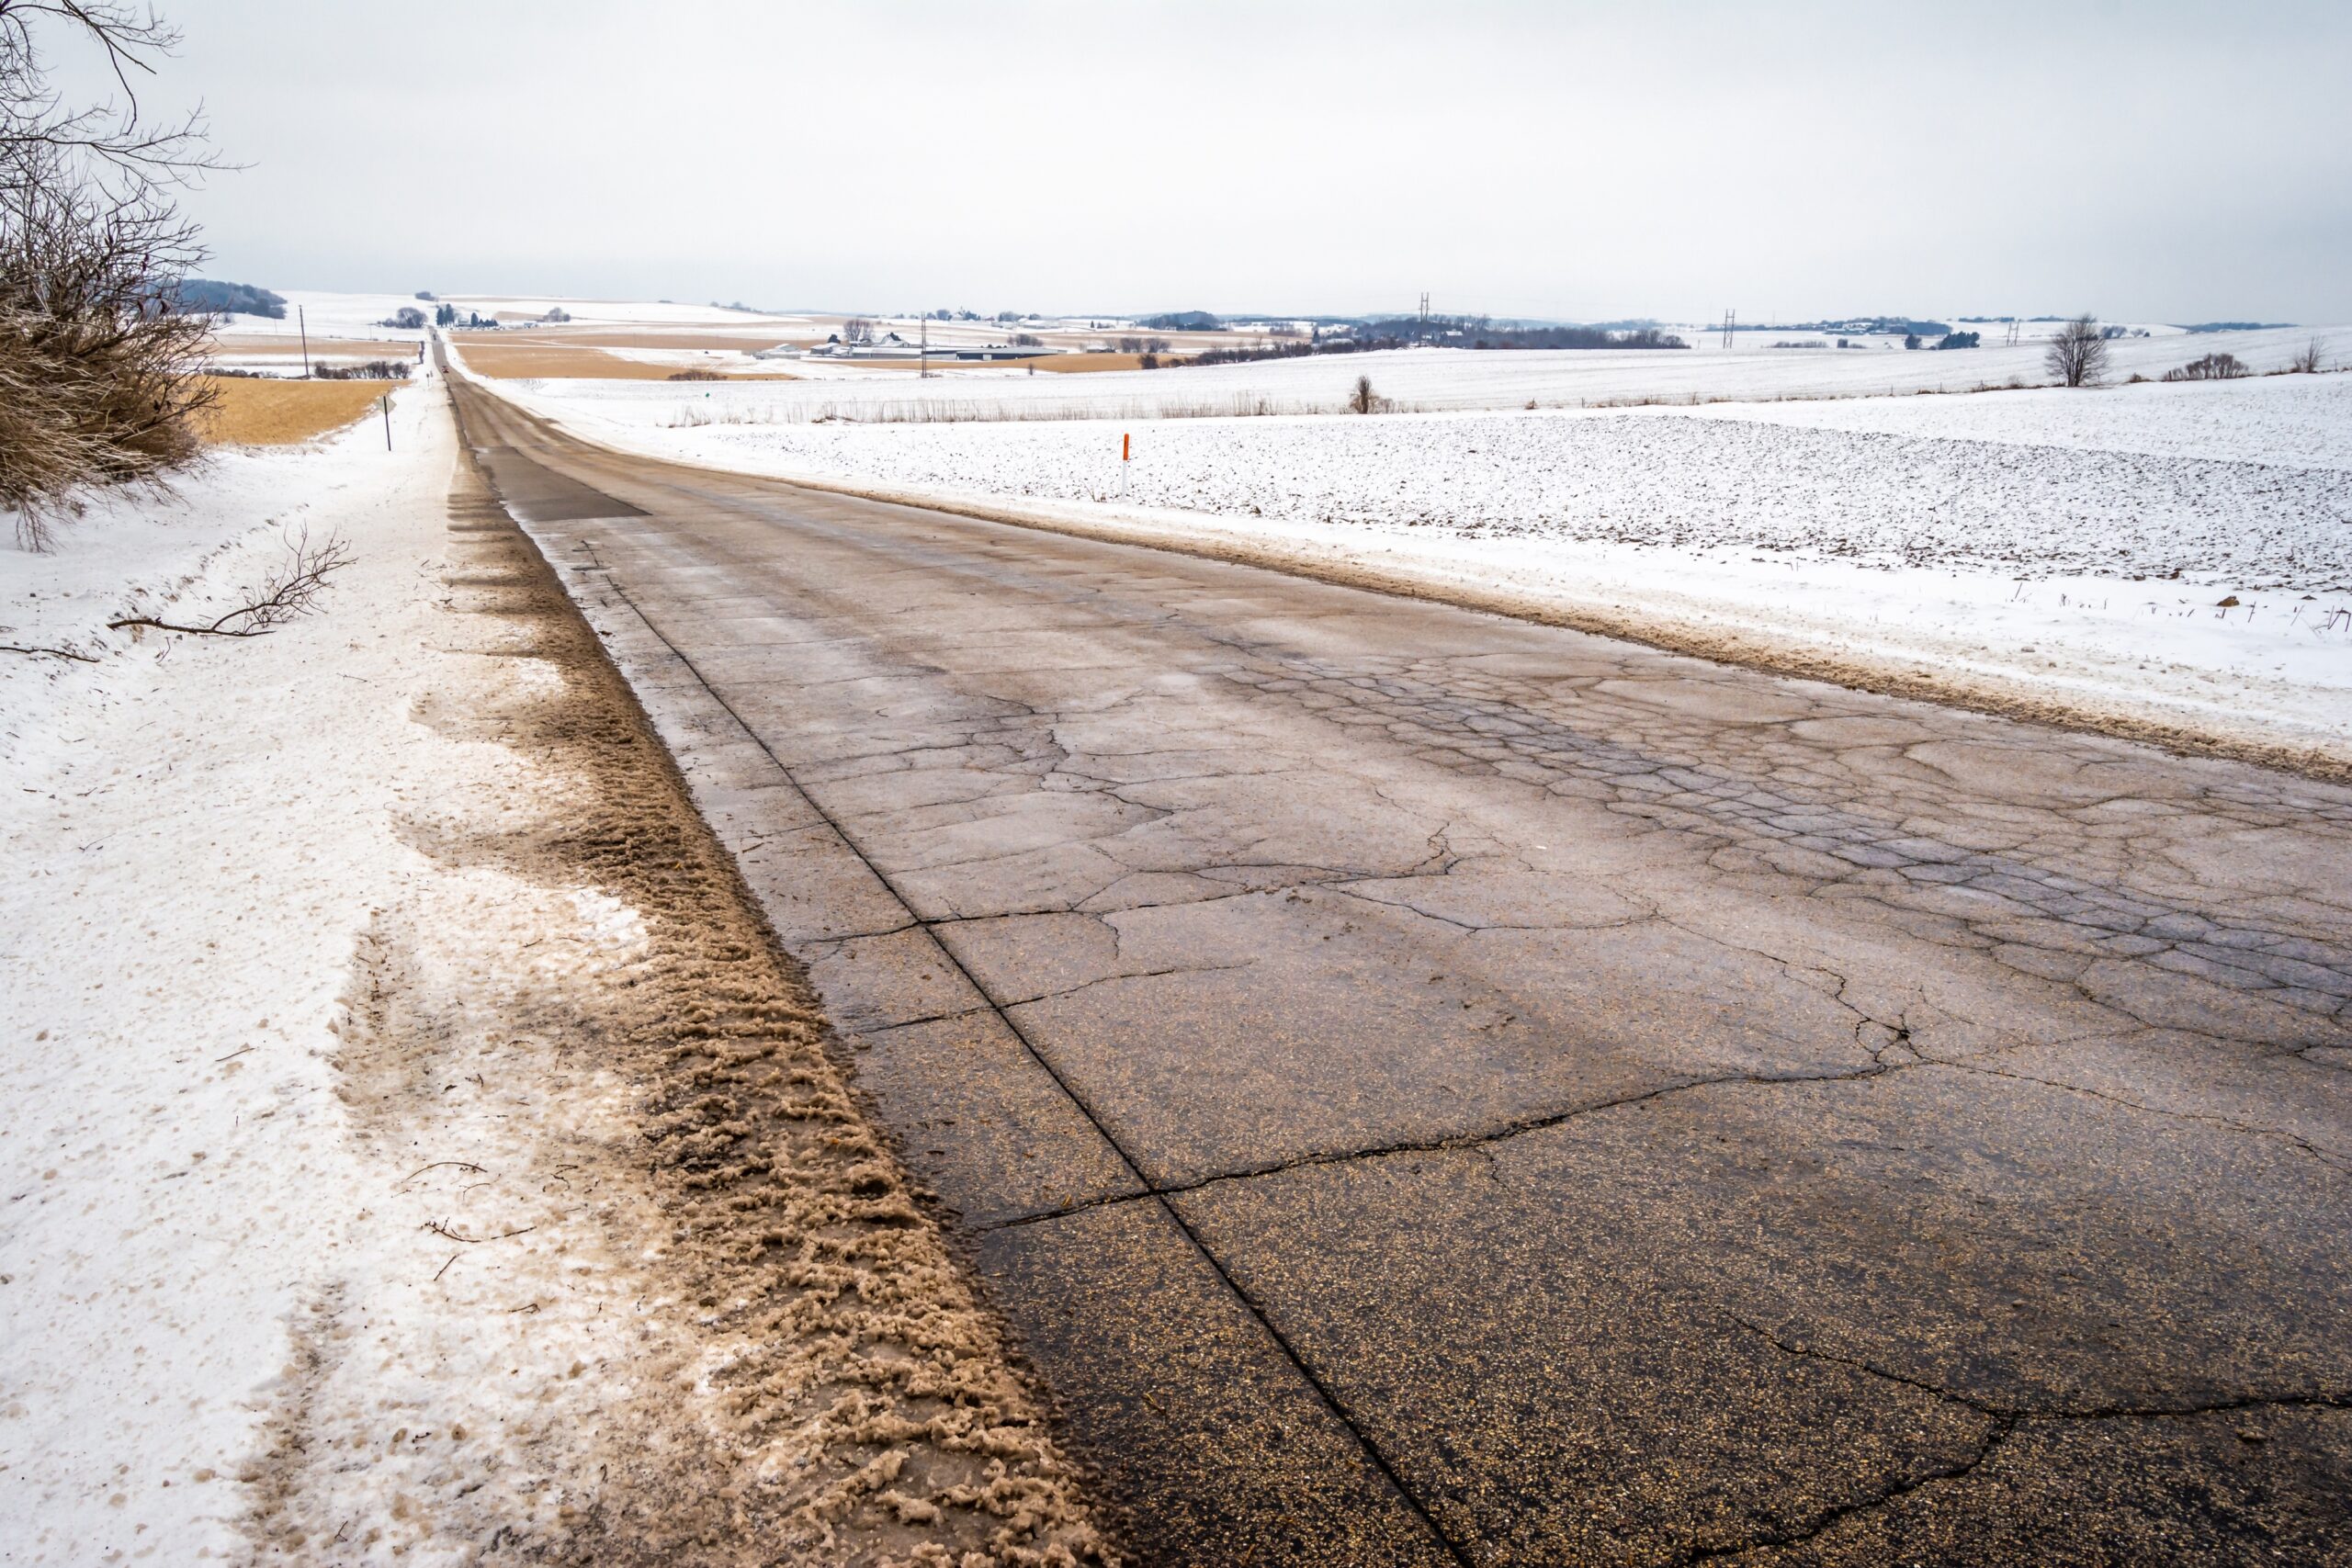
{"label": "large leafless brown bush at the upper left edge", "polygon": [[[38,31],[94,45],[125,106],[49,87]],[[176,33],[111,0],[0,0],[0,508],[40,548],[89,484],[155,482],[195,456],[209,320],[172,308],[202,259],[169,188],[209,167],[202,122],[151,125],[132,73]]]}

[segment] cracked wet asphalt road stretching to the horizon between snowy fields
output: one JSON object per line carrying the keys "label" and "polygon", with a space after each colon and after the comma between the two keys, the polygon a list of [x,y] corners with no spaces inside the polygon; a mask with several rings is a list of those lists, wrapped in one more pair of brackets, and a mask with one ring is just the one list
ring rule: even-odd
{"label": "cracked wet asphalt road stretching to the horizon between snowy fields", "polygon": [[2352,790],[454,390],[1143,1561],[2352,1561]]}

